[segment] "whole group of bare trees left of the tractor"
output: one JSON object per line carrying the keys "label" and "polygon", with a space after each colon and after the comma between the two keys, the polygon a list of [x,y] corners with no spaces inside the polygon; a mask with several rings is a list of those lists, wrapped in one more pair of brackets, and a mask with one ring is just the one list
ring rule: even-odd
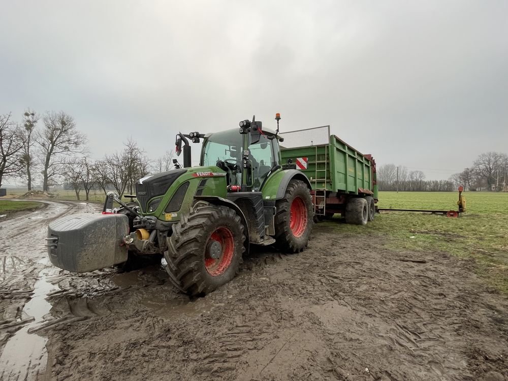
{"label": "whole group of bare trees left of the tractor", "polygon": [[78,200],[81,192],[88,200],[91,189],[132,194],[139,178],[173,168],[172,152],[151,160],[132,139],[123,143],[121,152],[100,160],[91,160],[88,152],[85,134],[63,111],[41,116],[28,109],[20,122],[11,113],[0,115],[0,187],[6,179],[18,178],[28,190],[36,182],[46,191],[63,185],[74,189]]}

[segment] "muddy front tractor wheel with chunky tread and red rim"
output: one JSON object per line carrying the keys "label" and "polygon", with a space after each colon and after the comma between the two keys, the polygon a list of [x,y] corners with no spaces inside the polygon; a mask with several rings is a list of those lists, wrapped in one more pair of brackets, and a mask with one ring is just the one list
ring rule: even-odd
{"label": "muddy front tractor wheel with chunky tread and red rim", "polygon": [[236,275],[245,250],[243,225],[225,206],[203,205],[173,226],[164,257],[171,282],[192,296],[212,292]]}

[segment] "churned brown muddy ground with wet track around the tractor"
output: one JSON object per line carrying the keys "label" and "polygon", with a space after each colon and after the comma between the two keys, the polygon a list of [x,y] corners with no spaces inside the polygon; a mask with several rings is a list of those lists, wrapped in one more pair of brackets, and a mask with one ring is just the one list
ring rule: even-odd
{"label": "churned brown muddy ground with wet track around the tractor", "polygon": [[255,250],[190,301],[164,263],[51,267],[48,221],[83,211],[49,202],[0,221],[2,380],[508,380],[508,301],[469,260],[392,252],[333,221],[303,253]]}

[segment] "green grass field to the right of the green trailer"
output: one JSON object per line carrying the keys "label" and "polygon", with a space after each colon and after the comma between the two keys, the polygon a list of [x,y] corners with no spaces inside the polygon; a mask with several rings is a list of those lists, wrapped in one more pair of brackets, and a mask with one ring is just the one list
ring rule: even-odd
{"label": "green grass field to the right of the green trailer", "polygon": [[[341,232],[388,238],[396,251],[446,251],[473,258],[477,272],[508,294],[508,193],[467,192],[458,218],[421,212],[381,212],[367,226],[336,225]],[[380,208],[457,210],[458,193],[380,192]],[[332,221],[333,223],[333,221]],[[328,224],[332,224],[328,223]]]}

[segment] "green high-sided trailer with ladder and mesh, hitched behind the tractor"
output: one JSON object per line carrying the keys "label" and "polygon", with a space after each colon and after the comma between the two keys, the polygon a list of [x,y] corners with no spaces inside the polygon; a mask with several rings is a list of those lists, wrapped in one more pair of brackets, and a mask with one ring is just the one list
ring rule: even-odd
{"label": "green high-sided trailer with ladder and mesh, hitched behind the tractor", "polygon": [[[347,223],[364,225],[375,215],[375,161],[372,155],[330,135],[329,129],[323,126],[281,134],[287,141],[281,143],[281,163],[293,165],[310,180],[317,219],[340,213]],[[316,139],[315,144],[311,139]],[[302,145],[306,141],[311,144]]]}

